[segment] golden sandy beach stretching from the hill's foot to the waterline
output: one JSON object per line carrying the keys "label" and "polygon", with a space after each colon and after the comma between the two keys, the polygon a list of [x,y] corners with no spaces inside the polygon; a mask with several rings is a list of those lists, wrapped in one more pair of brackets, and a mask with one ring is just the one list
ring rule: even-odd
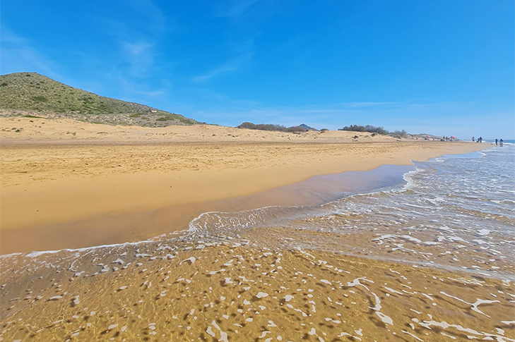
{"label": "golden sandy beach stretching from the hill's foot to the waterline", "polygon": [[355,133],[343,131],[297,135],[35,118],[0,118],[0,124],[3,254],[143,240],[184,229],[201,212],[252,207],[213,201],[486,147],[369,133],[357,133],[356,142]]}

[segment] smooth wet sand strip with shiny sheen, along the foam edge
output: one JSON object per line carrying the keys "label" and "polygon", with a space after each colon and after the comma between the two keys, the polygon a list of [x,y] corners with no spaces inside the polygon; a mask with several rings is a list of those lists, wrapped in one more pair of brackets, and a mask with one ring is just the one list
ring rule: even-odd
{"label": "smooth wet sand strip with shiny sheen, along the foam edge", "polygon": [[[232,197],[199,203],[177,204],[149,212],[97,216],[81,221],[28,226],[2,231],[5,253],[33,250],[82,248],[146,240],[182,231],[189,222],[204,212],[240,212],[268,206],[313,206],[336,200],[353,191],[373,190],[403,181],[402,174],[413,166],[380,166],[374,171],[351,171],[314,176],[307,181],[283,185],[244,197]],[[73,232],[73,233],[71,233]],[[64,233],[66,234],[63,239]],[[13,250],[11,241],[23,241],[23,250]],[[66,245],[63,245],[66,243]]]}

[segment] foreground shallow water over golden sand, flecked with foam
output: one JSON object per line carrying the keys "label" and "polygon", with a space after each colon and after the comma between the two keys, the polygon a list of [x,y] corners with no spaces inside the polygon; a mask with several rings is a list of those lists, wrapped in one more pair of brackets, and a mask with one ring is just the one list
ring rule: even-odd
{"label": "foreground shallow water over golden sand, flecked with foam", "polygon": [[0,338],[514,341],[507,281],[201,239],[3,259]]}

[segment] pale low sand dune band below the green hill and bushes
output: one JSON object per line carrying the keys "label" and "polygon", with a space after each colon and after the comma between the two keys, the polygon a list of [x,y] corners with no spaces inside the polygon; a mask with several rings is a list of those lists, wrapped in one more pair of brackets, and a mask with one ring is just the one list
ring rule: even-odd
{"label": "pale low sand dune band below the green hill and bushes", "polygon": [[395,141],[385,135],[372,137],[370,133],[347,131],[308,131],[294,134],[247,130],[225,126],[195,125],[146,128],[141,126],[109,126],[59,118],[0,118],[3,145],[34,145],[38,143],[106,143],[131,144],[134,142],[352,142]]}

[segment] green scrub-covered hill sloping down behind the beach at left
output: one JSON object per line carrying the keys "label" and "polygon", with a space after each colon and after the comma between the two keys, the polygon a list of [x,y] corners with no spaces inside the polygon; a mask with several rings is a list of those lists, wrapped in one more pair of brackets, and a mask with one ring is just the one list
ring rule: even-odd
{"label": "green scrub-covered hill sloping down behind the beach at left", "polygon": [[198,123],[143,104],[86,92],[37,73],[0,75],[0,110],[61,114],[90,122],[141,126]]}

